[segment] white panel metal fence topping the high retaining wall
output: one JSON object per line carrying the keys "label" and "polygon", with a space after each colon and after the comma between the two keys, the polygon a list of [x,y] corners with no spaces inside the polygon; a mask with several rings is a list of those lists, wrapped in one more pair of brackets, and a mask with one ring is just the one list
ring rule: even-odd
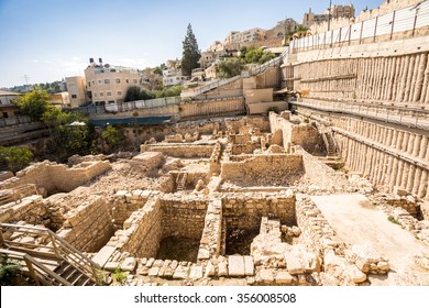
{"label": "white panel metal fence topping the high retaining wall", "polygon": [[408,7],[392,13],[380,15],[360,23],[350,24],[324,33],[302,37],[290,42],[292,51],[329,47],[338,43],[351,43],[365,38],[391,35],[405,31],[415,31],[429,26],[429,1]]}

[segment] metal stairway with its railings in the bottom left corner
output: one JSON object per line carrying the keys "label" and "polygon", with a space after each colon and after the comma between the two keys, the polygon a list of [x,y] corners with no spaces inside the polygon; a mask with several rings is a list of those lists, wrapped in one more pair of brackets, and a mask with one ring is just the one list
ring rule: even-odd
{"label": "metal stairway with its railings in the bottom left corner", "polygon": [[[7,232],[43,237],[43,244],[26,244],[3,238]],[[56,233],[45,228],[0,223],[0,256],[22,265],[24,275],[45,286],[101,285],[99,266]]]}

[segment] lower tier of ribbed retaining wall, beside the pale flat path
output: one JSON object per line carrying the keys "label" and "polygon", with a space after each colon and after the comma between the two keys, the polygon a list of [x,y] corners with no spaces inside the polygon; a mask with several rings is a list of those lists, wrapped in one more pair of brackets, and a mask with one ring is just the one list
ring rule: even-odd
{"label": "lower tier of ribbed retaining wall, beside the pale flat path", "polygon": [[429,197],[427,133],[353,118],[337,118],[334,123],[348,168],[361,172],[383,190],[400,187],[419,198]]}

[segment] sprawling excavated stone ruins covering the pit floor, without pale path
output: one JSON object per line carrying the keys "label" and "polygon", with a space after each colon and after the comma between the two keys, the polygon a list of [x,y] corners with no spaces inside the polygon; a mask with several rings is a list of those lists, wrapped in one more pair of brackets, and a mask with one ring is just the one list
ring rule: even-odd
{"label": "sprawling excavated stone ruins covering the pit floor, without pale path", "polygon": [[[195,125],[142,144],[132,158],[74,157],[70,167],[43,162],[3,176],[0,222],[47,228],[108,275],[121,270],[123,284],[144,286],[371,285],[387,277],[384,252],[339,237],[314,195],[365,195],[429,243],[418,201],[376,194],[359,174],[329,167],[314,123],[285,112],[209,124],[211,134]],[[45,241],[8,228],[3,238]],[[414,258],[429,270],[427,251]]]}

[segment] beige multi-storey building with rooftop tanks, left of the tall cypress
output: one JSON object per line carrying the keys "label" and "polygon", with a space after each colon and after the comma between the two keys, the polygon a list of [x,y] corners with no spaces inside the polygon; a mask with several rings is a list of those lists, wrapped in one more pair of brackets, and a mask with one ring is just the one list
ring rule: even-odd
{"label": "beige multi-storey building with rooftop tanks, left of the tall cypress", "polygon": [[129,87],[142,86],[142,73],[134,68],[103,64],[102,59],[96,64],[89,59],[85,69],[87,95],[95,105],[123,102]]}

